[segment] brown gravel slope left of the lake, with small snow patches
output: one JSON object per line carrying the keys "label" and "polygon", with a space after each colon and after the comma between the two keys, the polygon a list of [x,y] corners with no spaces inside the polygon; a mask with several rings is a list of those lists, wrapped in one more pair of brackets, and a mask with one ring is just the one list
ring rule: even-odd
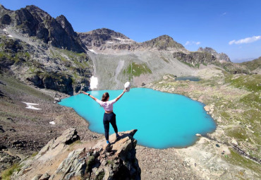
{"label": "brown gravel slope left of the lake, with small snow patches", "polygon": [[[54,96],[67,95],[52,90],[34,88],[10,76],[0,75],[0,145],[23,155],[39,151],[49,140],[70,127],[77,128],[82,140],[92,140],[99,135],[88,129],[87,121],[73,109],[54,103]],[[30,102],[40,110],[26,109]],[[55,124],[49,124],[54,121]]]}

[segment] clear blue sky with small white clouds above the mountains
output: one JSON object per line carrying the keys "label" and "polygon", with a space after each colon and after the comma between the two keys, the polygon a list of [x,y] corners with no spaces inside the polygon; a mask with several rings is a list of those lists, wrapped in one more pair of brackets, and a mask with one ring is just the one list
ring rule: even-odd
{"label": "clear blue sky with small white clouds above the mountains", "polygon": [[261,56],[260,0],[1,0],[11,10],[35,5],[63,14],[76,32],[109,28],[136,42],[169,35],[186,49],[212,47],[231,61]]}

